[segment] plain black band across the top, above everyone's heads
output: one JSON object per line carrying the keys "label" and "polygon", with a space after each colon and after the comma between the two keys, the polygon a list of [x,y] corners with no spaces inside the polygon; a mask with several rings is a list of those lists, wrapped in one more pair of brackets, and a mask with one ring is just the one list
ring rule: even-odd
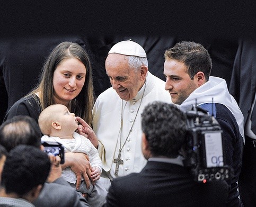
{"label": "plain black band across the top, above everyone's heads", "polygon": [[1,35],[255,36],[255,1],[1,1]]}

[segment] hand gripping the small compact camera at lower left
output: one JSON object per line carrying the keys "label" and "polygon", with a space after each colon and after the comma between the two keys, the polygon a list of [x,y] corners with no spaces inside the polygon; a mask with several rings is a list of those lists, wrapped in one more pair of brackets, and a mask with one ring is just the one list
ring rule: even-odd
{"label": "hand gripping the small compact camera at lower left", "polygon": [[51,169],[50,173],[47,177],[47,182],[52,183],[59,177],[61,177],[61,166],[60,166],[60,157],[59,156],[54,156],[54,155],[49,155],[49,159],[51,161]]}

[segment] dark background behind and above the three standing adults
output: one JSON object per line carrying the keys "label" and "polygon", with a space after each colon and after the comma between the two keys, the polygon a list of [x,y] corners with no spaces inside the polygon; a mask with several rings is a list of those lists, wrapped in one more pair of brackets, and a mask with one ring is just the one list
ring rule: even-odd
{"label": "dark background behind and above the three standing adults", "polygon": [[5,111],[38,82],[43,61],[61,41],[89,52],[95,95],[110,87],[104,61],[114,43],[132,39],[163,79],[164,50],[180,40],[203,44],[211,75],[229,85],[240,39],[254,41],[254,1],[1,1],[0,123]]}

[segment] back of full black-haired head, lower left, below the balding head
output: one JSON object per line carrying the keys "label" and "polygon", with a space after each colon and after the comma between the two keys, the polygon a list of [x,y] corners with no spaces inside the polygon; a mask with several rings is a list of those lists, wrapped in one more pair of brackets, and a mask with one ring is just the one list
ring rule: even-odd
{"label": "back of full black-haired head, lower left, below the balding head", "polygon": [[7,155],[1,186],[7,194],[16,193],[22,197],[45,183],[50,166],[45,152],[33,146],[19,145]]}

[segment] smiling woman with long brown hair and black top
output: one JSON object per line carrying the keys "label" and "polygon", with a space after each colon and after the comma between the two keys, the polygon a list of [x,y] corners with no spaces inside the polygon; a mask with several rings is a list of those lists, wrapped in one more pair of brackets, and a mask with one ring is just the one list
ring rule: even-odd
{"label": "smiling woman with long brown hair and black top", "polygon": [[65,105],[91,125],[92,68],[89,56],[77,43],[62,42],[51,51],[38,86],[11,107],[5,120],[15,115],[29,115],[38,121],[40,112],[52,104]]}

